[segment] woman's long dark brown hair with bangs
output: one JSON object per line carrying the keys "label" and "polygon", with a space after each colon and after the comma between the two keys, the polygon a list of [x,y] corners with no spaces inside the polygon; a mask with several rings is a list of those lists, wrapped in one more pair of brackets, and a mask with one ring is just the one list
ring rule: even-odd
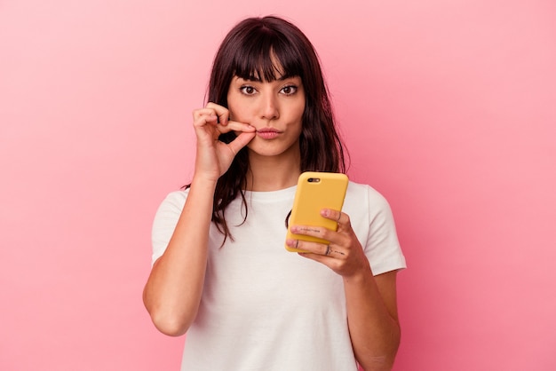
{"label": "woman's long dark brown hair with bangs", "polygon": [[[299,137],[300,170],[346,171],[344,146],[335,126],[320,62],[313,45],[299,28],[274,16],[242,20],[220,44],[210,74],[208,100],[227,107],[227,92],[234,76],[266,82],[299,76],[306,94]],[[229,132],[219,139],[229,143],[234,138],[234,132]],[[242,197],[243,221],[247,218],[244,188],[248,170],[249,157],[244,147],[218,179],[212,221],[224,234],[225,241],[228,236],[233,239],[226,225],[225,209],[238,196]]]}

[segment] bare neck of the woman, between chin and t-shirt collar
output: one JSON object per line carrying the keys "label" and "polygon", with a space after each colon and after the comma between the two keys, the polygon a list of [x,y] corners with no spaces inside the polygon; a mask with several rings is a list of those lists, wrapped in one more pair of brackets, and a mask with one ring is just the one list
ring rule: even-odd
{"label": "bare neck of the woman, between chin and t-shirt collar", "polygon": [[295,186],[301,174],[300,169],[299,154],[260,156],[250,153],[246,189],[270,192]]}

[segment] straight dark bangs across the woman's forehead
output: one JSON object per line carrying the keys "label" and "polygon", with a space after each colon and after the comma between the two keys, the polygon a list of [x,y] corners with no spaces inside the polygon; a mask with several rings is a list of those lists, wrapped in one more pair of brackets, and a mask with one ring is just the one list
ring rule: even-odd
{"label": "straight dark bangs across the woman's forehead", "polygon": [[235,50],[233,60],[234,75],[245,80],[273,82],[304,75],[303,58],[267,28],[251,33]]}

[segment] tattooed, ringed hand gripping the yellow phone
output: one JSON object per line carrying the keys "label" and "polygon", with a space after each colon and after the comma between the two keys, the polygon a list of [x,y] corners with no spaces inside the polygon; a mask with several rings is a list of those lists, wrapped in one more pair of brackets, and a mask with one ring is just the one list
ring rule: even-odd
{"label": "tattooed, ringed hand gripping the yellow phone", "polygon": [[344,278],[369,270],[369,260],[365,257],[361,242],[353,232],[349,216],[332,209],[322,209],[321,215],[338,222],[338,231],[322,226],[306,225],[291,225],[290,230],[291,233],[330,241],[330,244],[291,239],[286,241],[288,246],[305,250],[306,252],[299,255],[327,265]]}

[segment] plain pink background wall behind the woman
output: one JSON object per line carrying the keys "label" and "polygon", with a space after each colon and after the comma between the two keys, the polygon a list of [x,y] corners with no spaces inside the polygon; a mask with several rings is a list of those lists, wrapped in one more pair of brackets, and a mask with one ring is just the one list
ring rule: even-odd
{"label": "plain pink background wall behind the woman", "polygon": [[267,13],[314,42],[350,177],[393,207],[395,370],[556,369],[552,0],[0,1],[0,369],[178,369],[141,302],[151,222],[218,43]]}

